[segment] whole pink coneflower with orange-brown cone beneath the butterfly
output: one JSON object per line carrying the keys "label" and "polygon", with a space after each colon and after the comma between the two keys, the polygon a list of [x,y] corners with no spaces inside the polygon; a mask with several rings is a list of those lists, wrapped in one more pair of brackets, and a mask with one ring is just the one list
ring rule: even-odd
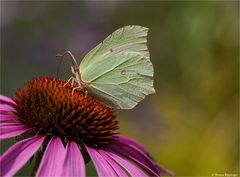
{"label": "whole pink coneflower with orange-brown cone beneath the butterfly", "polygon": [[13,176],[33,155],[36,176],[86,176],[90,159],[101,177],[173,175],[114,132],[113,109],[72,89],[62,80],[36,78],[14,98],[0,96],[0,140],[18,140],[0,158],[1,176]]}

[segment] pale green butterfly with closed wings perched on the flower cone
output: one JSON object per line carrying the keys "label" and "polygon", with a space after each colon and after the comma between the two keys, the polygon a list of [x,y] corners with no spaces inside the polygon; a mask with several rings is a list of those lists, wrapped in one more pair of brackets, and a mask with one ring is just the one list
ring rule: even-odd
{"label": "pale green butterfly with closed wings perched on the flower cone", "polygon": [[132,109],[155,93],[147,33],[142,26],[120,28],[92,49],[80,66],[71,52],[58,55],[71,57],[75,78],[69,81],[78,83],[74,90],[86,89],[116,109]]}

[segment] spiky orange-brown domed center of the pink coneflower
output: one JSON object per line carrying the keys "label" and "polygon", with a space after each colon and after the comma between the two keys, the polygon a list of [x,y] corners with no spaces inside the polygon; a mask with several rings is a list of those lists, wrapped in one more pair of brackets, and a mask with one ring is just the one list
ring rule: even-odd
{"label": "spiky orange-brown domed center of the pink coneflower", "polygon": [[14,99],[19,121],[35,134],[59,136],[78,144],[107,145],[118,129],[113,110],[82,90],[72,92],[73,85],[65,83],[37,78],[25,84]]}

